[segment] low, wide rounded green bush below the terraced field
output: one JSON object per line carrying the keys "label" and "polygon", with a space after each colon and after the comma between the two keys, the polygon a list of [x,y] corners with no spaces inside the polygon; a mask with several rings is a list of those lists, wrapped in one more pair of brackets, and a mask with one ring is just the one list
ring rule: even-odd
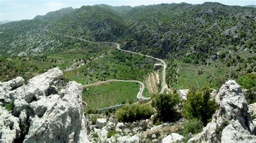
{"label": "low, wide rounded green bush below the terraced field", "polygon": [[148,119],[155,113],[149,104],[125,105],[117,110],[116,118],[118,121],[132,122],[136,120]]}

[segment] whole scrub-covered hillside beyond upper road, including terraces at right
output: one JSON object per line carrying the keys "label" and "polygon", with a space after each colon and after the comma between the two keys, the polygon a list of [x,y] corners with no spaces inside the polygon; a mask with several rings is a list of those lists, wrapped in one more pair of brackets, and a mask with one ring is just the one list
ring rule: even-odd
{"label": "whole scrub-covered hillside beyond upper road, including terraces at right", "polygon": [[69,49],[62,36],[71,35],[165,59],[173,87],[185,80],[217,86],[221,76],[255,71],[255,18],[255,8],[210,2],[66,8],[0,25],[0,56],[58,53]]}

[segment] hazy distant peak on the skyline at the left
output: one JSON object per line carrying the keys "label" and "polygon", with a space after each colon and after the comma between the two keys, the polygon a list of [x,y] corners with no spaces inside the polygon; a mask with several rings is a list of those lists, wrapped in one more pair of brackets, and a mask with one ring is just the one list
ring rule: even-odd
{"label": "hazy distant peak on the skyline at the left", "polygon": [[60,10],[48,12],[44,16],[39,16],[38,15],[34,19],[40,19],[40,20],[43,20],[45,22],[50,22],[52,20],[58,20],[58,19],[62,18],[65,15],[68,15],[69,13],[71,13],[73,11],[75,11],[75,9],[73,9],[72,7],[63,8],[63,9],[60,9]]}

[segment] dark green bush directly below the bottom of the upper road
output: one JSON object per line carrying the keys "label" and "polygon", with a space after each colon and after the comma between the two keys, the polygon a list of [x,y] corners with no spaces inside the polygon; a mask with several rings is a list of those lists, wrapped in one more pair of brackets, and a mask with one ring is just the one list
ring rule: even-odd
{"label": "dark green bush directly below the bottom of the upper road", "polygon": [[179,104],[178,94],[158,94],[152,97],[152,106],[157,109],[157,118],[163,121],[177,119],[176,106]]}

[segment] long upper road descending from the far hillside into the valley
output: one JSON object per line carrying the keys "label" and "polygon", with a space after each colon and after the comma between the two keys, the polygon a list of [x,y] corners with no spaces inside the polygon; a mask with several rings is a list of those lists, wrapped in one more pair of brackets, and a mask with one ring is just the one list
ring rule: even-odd
{"label": "long upper road descending from the far hillside into the valley", "polygon": [[[82,40],[82,41],[86,41],[86,42],[95,42],[95,41],[88,41],[88,40],[84,40],[84,39],[81,39],[81,38],[76,38],[76,37],[71,37],[69,35],[64,35],[65,37],[69,37],[69,38],[75,38],[75,39],[78,39],[78,40]],[[101,43],[108,43],[108,44],[115,44],[117,45],[117,49],[119,49],[120,51],[124,51],[124,52],[127,52],[127,53],[132,53],[132,54],[139,54],[139,55],[142,55],[142,56],[146,56],[146,57],[149,57],[149,58],[152,58],[152,59],[156,59],[158,61],[160,61],[161,63],[163,63],[163,75],[162,75],[162,82],[161,82],[161,90],[160,90],[160,94],[163,94],[164,93],[164,90],[165,89],[168,89],[168,86],[165,82],[165,77],[166,77],[166,63],[164,60],[161,60],[161,59],[158,59],[158,58],[154,58],[153,56],[150,56],[150,55],[144,55],[144,54],[140,54],[140,53],[136,53],[136,52],[132,52],[132,51],[127,51],[127,50],[124,50],[124,49],[121,49],[120,48],[120,45],[116,42],[101,42]]]}

